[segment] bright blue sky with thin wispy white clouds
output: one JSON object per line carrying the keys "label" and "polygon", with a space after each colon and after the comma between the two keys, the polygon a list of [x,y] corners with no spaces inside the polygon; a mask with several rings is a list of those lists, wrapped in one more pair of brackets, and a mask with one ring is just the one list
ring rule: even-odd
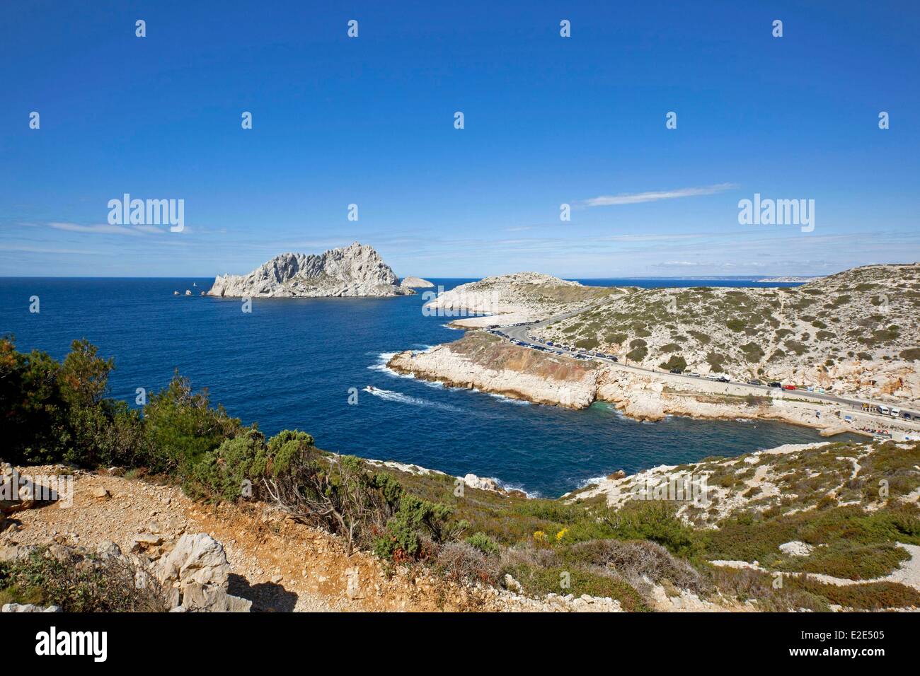
{"label": "bright blue sky with thin wispy white clouds", "polygon": [[[209,277],[355,240],[400,276],[917,260],[918,7],[5,3],[0,274]],[[126,192],[184,200],[185,231],[109,225]],[[814,230],[739,224],[754,193],[814,200]]]}

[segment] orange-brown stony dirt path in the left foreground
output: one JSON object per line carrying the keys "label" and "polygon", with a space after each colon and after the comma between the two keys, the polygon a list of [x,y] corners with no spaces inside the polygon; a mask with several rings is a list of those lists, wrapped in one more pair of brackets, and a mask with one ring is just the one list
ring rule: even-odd
{"label": "orange-brown stony dirt path in the left foreground", "polygon": [[[49,475],[54,468],[28,472]],[[110,540],[127,552],[138,533],[162,536],[166,546],[183,533],[209,533],[224,544],[232,568],[230,593],[253,601],[254,610],[478,609],[466,590],[424,573],[387,576],[373,556],[349,558],[335,537],[264,504],[213,506],[190,500],[178,487],[82,472],[75,473],[73,505],[59,504],[15,514],[0,533],[0,546],[54,538],[83,546]]]}

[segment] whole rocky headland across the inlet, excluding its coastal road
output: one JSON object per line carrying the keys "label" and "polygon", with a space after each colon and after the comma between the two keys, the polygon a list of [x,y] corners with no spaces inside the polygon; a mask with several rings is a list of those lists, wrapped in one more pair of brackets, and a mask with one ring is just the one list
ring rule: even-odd
{"label": "whole rocky headland across the inlet, excluding its coastal road", "polygon": [[[848,270],[795,289],[606,289],[602,295],[577,282],[554,280],[533,273],[488,278],[431,304],[482,310],[491,303],[500,317],[454,324],[544,320],[529,329],[537,338],[614,354],[619,363],[576,361],[469,331],[424,352],[400,352],[388,366],[540,404],[582,408],[607,402],[644,420],[769,418],[829,434],[872,430],[880,419],[852,404],[743,384],[758,378],[895,407],[920,405],[916,264]],[[553,292],[547,294],[547,288]],[[547,323],[547,317],[556,319]],[[701,377],[674,375],[672,369]],[[915,420],[890,418],[884,426],[894,433],[920,432]]]}

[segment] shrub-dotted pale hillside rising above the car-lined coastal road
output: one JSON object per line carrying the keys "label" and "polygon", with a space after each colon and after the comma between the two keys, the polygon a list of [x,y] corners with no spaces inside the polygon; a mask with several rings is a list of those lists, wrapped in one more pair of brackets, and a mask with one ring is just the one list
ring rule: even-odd
{"label": "shrub-dotted pale hillside rising above the car-lined coastal road", "polygon": [[918,317],[914,263],[846,270],[800,287],[630,289],[538,333],[645,368],[916,402]]}

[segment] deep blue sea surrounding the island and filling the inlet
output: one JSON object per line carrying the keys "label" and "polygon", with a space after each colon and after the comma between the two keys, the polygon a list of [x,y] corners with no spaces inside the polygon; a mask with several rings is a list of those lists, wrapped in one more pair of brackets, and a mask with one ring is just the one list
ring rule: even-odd
{"label": "deep blue sea surrounding the island and filling the inlet", "polygon": [[[432,280],[451,289],[470,280]],[[421,293],[376,299],[253,301],[199,296],[211,279],[0,278],[0,334],[17,349],[63,358],[75,338],[114,357],[110,395],[165,386],[173,372],[207,388],[213,402],[273,434],[309,431],[329,451],[494,476],[508,487],[556,497],[617,469],[734,455],[817,432],[773,422],[666,418],[639,423],[612,407],[535,406],[448,389],[387,372],[389,354],[461,337],[421,313]],[[726,280],[591,280],[638,286],[767,286]],[[196,285],[193,285],[196,284]],[[777,284],[774,284],[777,286]],[[190,289],[193,296],[174,296]],[[40,313],[29,313],[39,296]],[[349,388],[368,384],[381,395]]]}

